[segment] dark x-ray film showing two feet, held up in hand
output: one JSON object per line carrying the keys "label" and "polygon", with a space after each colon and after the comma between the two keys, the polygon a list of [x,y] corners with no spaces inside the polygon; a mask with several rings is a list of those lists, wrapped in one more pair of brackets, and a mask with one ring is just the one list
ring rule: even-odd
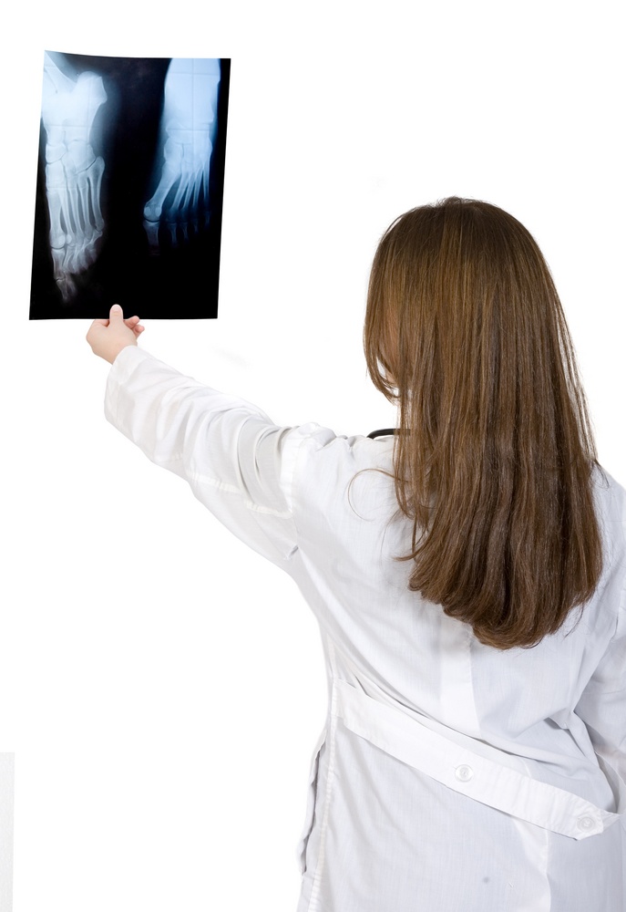
{"label": "dark x-ray film showing two feet, held up in hand", "polygon": [[217,316],[230,63],[46,51],[30,319]]}

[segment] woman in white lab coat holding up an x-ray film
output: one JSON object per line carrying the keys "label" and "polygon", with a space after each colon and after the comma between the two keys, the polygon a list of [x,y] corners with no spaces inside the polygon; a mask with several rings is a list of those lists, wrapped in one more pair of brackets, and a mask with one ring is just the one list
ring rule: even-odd
{"label": "woman in white lab coat holding up an x-ray film", "polygon": [[323,635],[299,912],[626,904],[626,492],[508,213],[400,216],[364,345],[395,437],[282,429],[97,320],[108,420],[293,576]]}

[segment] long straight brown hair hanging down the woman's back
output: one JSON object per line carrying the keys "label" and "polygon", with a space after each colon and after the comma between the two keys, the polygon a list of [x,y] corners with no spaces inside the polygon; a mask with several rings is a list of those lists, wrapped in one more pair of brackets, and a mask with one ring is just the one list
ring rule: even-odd
{"label": "long straight brown hair hanging down the woman's back", "polygon": [[593,435],[539,246],[487,202],[405,212],[375,254],[364,349],[398,405],[409,588],[482,643],[535,645],[602,568]]}

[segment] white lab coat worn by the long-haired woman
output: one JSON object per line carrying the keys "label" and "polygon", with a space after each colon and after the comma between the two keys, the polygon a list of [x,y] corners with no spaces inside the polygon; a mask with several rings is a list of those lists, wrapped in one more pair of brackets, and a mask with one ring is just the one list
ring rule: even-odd
{"label": "white lab coat worn by the long-haired woman", "polygon": [[406,587],[389,440],[276,427],[138,347],[108,420],[292,575],[329,682],[298,912],[624,912],[626,492],[598,473],[596,595],[531,649]]}

